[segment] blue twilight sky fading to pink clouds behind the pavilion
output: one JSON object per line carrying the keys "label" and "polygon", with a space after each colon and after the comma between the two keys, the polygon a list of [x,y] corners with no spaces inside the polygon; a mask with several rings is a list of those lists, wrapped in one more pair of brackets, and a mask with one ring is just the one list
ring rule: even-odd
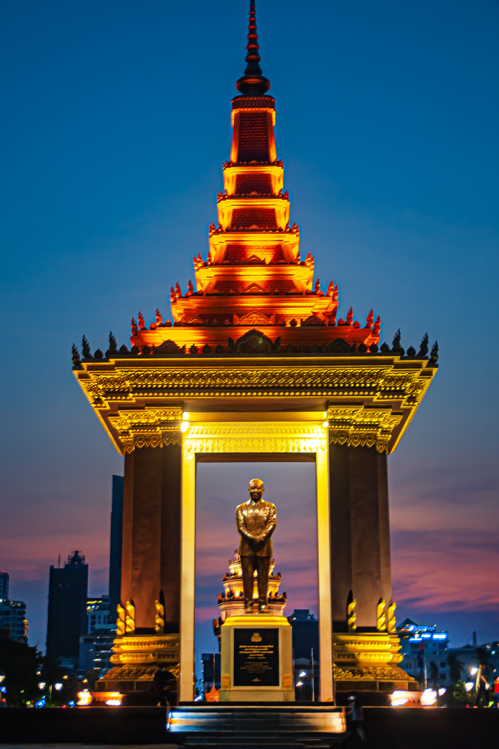
{"label": "blue twilight sky fading to pink clouds behind the pavilion", "polygon": [[[7,0],[1,7],[4,320],[0,568],[44,648],[49,565],[75,548],[107,590],[122,458],[70,372],[73,341],[128,342],[130,317],[208,249],[247,0]],[[426,331],[441,367],[390,456],[398,618],[454,646],[499,638],[498,47],[495,0],[258,0],[291,221],[340,311],[382,339]],[[204,464],[198,652],[211,649],[233,508],[261,475],[279,512],[288,610],[316,610],[308,464]],[[306,522],[300,520],[306,517]],[[212,554],[208,531],[223,516]],[[297,560],[300,520],[303,553]],[[303,527],[302,527],[303,525]],[[205,530],[203,530],[205,529]],[[232,530],[231,530],[232,529]],[[228,539],[233,536],[233,540]],[[208,629],[206,628],[208,626]]]}

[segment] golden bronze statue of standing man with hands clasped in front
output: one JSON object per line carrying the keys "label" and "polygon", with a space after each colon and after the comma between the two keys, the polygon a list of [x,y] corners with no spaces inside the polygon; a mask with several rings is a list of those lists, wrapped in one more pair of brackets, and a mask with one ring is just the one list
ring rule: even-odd
{"label": "golden bronze statue of standing man with hands clasped in front", "polygon": [[258,611],[268,613],[267,591],[272,534],[277,524],[276,506],[262,497],[265,491],[261,479],[251,479],[249,500],[236,507],[236,525],[241,535],[239,556],[243,569],[244,612],[253,613],[253,579],[257,571]]}

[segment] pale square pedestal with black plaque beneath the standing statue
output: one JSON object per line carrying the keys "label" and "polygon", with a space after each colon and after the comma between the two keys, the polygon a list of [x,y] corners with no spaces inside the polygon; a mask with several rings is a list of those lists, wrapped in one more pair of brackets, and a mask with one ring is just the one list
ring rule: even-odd
{"label": "pale square pedestal with black plaque beneath the standing statue", "polygon": [[285,616],[228,616],[220,629],[220,702],[294,702],[291,625]]}

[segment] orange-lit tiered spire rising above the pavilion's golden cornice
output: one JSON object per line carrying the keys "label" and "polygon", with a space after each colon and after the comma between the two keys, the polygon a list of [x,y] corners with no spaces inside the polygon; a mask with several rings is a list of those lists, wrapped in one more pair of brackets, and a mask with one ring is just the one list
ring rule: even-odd
{"label": "orange-lit tiered spire rising above the pavilion's golden cornice", "polygon": [[[185,351],[231,351],[256,329],[275,350],[327,350],[336,339],[348,345],[378,344],[380,321],[372,310],[365,323],[348,309],[337,319],[338,285],[321,291],[314,258],[300,258],[300,230],[290,225],[284,168],[276,158],[275,100],[261,74],[255,2],[250,2],[247,67],[232,100],[232,149],[223,164],[217,225],[209,228],[208,257],[194,259],[196,285],[172,285],[172,321],[156,310],[147,328],[142,312],[132,324],[132,344],[157,347],[171,341]],[[276,342],[279,339],[279,342]],[[282,348],[283,347],[283,348]],[[317,348],[318,347],[318,348]]]}

